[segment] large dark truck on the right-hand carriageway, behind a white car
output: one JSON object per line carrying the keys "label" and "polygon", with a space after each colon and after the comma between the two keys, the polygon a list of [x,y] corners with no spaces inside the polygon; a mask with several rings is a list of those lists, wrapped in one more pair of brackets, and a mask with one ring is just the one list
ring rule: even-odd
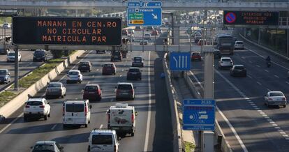
{"label": "large dark truck on the right-hand carriageway, behind a white car", "polygon": [[234,54],[235,38],[231,35],[222,34],[216,36],[214,40],[214,48],[220,50],[221,54]]}

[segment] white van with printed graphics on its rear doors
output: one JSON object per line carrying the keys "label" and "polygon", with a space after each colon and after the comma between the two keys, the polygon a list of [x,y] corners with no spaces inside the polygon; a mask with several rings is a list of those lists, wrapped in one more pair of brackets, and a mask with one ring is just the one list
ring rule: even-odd
{"label": "white van with printed graphics on its rear doors", "polygon": [[118,134],[135,135],[135,107],[117,103],[107,111],[108,129],[116,130]]}

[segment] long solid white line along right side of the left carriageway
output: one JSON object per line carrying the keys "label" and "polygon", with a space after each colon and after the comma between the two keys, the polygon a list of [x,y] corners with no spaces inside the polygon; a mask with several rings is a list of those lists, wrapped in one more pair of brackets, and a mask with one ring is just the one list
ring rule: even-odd
{"label": "long solid white line along right side of the left carriageway", "polygon": [[[151,69],[150,69],[150,61],[151,61],[151,52],[149,51],[149,61],[148,61],[148,82],[149,82],[149,105],[151,105]],[[144,139],[144,151],[147,151],[149,146],[149,126],[151,123],[151,106],[149,106],[149,110],[147,112],[147,130],[145,132],[145,139]]]}

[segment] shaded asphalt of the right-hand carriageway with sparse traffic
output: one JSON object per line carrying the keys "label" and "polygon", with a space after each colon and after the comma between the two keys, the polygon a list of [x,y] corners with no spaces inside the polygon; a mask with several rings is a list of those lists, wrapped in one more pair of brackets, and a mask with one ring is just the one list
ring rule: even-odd
{"label": "shaded asphalt of the right-hand carriageway with sparse traffic", "polygon": [[[229,70],[218,70],[215,60],[214,98],[221,110],[216,113],[218,123],[233,151],[289,151],[288,107],[264,105],[267,91],[283,91],[288,98],[289,63],[258,47],[247,43],[245,47],[231,57],[234,64],[246,66],[247,77],[231,77]],[[268,55],[272,56],[271,68],[265,64]],[[192,67],[202,83],[202,61],[193,61]]]}

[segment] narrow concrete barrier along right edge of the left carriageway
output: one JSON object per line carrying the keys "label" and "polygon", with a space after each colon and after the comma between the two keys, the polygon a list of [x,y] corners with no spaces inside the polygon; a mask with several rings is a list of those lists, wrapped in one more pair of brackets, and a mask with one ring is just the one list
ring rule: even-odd
{"label": "narrow concrete barrier along right edge of the left carriageway", "polygon": [[173,151],[181,152],[181,124],[179,123],[179,114],[177,111],[177,101],[175,97],[175,91],[172,90],[172,81],[170,79],[170,71],[168,70],[168,65],[165,62],[167,54],[163,57],[163,70],[165,73],[165,84],[167,86],[168,98],[170,102],[170,112],[172,114],[172,131],[174,135],[173,140]]}

